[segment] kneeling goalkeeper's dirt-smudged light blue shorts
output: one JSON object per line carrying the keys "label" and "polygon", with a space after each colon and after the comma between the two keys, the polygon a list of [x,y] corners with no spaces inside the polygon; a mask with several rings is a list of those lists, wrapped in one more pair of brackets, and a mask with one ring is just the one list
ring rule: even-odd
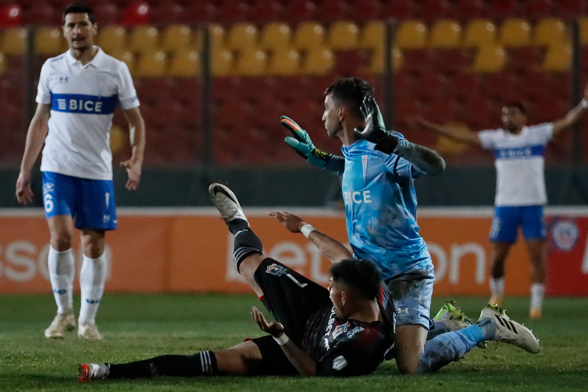
{"label": "kneeling goalkeeper's dirt-smudged light blue shorts", "polygon": [[421,324],[429,329],[433,267],[398,275],[387,283],[396,309],[396,325]]}

